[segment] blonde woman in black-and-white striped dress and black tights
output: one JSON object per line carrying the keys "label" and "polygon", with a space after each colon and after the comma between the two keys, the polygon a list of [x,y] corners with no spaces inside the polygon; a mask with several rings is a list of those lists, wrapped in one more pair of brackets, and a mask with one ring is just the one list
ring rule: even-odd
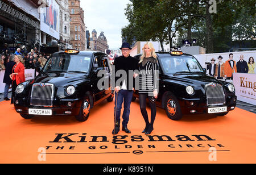
{"label": "blonde woman in black-and-white striped dress and black tights", "polygon": [[[143,55],[139,61],[139,105],[146,127],[142,131],[145,134],[151,134],[154,130],[154,121],[156,116],[156,105],[150,99],[158,97],[158,61],[154,45],[151,42],[144,44],[142,48]],[[146,110],[146,98],[149,99],[151,109],[151,120],[149,122]]]}

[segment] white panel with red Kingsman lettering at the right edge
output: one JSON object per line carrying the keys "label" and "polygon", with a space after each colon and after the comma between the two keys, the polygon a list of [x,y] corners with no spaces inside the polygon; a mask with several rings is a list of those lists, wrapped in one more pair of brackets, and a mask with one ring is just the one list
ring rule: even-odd
{"label": "white panel with red Kingsman lettering at the right edge", "polygon": [[256,105],[256,74],[233,73],[233,78],[237,99]]}

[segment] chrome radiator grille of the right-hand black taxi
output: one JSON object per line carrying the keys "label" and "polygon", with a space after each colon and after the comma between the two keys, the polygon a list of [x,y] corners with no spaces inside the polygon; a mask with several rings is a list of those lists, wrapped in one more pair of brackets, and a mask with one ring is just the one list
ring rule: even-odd
{"label": "chrome radiator grille of the right-hand black taxi", "polygon": [[217,106],[226,103],[223,87],[220,84],[210,83],[205,85],[207,105]]}

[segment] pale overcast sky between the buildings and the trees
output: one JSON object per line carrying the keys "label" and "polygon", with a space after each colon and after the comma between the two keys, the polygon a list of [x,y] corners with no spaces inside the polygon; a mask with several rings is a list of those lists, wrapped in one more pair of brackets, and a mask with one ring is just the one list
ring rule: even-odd
{"label": "pale overcast sky between the buildings and the trees", "polygon": [[97,37],[103,31],[110,49],[121,47],[121,29],[128,25],[125,8],[129,2],[129,0],[81,0],[85,26],[90,35],[94,29],[97,31]]}

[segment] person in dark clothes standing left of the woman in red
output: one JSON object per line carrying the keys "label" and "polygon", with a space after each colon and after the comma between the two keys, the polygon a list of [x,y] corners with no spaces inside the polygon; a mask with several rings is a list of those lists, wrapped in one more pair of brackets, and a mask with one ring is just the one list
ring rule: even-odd
{"label": "person in dark clothes standing left of the woman in red", "polygon": [[15,62],[13,60],[14,60],[14,55],[11,55],[9,58],[9,61],[7,61],[6,65],[5,65],[5,75],[3,76],[3,83],[5,83],[5,93],[3,95],[3,99],[5,99],[5,101],[10,100],[8,98],[8,91],[11,86],[12,80],[10,79],[9,76],[12,73],[11,71],[15,65]]}

